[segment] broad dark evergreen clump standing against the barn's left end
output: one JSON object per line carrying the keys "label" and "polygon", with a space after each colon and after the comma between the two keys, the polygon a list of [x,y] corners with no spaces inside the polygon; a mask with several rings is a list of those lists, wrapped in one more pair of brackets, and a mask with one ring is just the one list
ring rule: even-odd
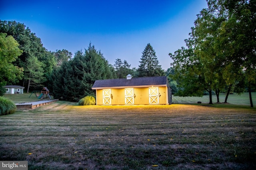
{"label": "broad dark evergreen clump standing against the barn's left end", "polygon": [[95,80],[112,78],[116,78],[114,68],[90,43],[84,53],[77,51],[72,60],[55,68],[51,84],[56,98],[78,102],[84,96],[95,96],[92,90]]}

